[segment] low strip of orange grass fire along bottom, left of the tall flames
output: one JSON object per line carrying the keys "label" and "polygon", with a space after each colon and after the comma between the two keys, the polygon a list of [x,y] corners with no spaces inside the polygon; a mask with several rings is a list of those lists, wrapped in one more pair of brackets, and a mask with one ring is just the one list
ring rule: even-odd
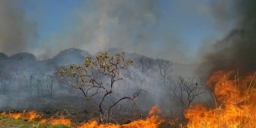
{"label": "low strip of orange grass fire along bottom, left of the tall flames", "polygon": [[[8,121],[10,121],[10,118],[13,118],[15,120],[24,119],[28,122],[31,122],[33,127],[37,126],[45,128],[57,127],[55,125],[63,125],[63,127],[66,126],[74,128],[157,128],[159,124],[164,122],[164,119],[160,117],[160,114],[161,110],[157,106],[153,106],[146,119],[135,120],[133,122],[130,122],[129,124],[124,125],[111,123],[101,124],[97,120],[89,120],[86,123],[74,124],[71,122],[71,119],[64,117],[51,117],[50,119],[41,118],[43,115],[34,111],[28,111],[26,113],[9,111],[9,114],[6,114],[6,112],[2,112],[0,117],[1,120],[3,120],[3,123],[9,123]],[[19,125],[24,124],[21,123]],[[30,127],[32,127],[32,125]]]}

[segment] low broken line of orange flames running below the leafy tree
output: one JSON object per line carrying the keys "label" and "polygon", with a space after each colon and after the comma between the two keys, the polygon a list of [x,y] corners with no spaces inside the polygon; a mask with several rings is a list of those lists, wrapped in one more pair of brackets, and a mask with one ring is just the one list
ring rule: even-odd
{"label": "low broken line of orange flames running below the leafy tree", "polygon": [[[90,120],[87,123],[81,123],[79,128],[157,128],[162,122],[165,120],[160,118],[162,111],[157,107],[153,106],[148,113],[148,117],[146,119],[139,119],[133,121],[129,124],[120,125],[120,124],[100,124],[96,120]],[[5,112],[1,113],[1,115],[5,115]],[[27,120],[32,120],[36,118],[42,117],[39,113],[35,111],[29,111],[27,113],[9,113],[10,117],[15,119],[22,118]],[[68,118],[53,118],[50,119],[41,119],[39,123],[50,123],[50,124],[63,124],[71,126],[71,120]]]}

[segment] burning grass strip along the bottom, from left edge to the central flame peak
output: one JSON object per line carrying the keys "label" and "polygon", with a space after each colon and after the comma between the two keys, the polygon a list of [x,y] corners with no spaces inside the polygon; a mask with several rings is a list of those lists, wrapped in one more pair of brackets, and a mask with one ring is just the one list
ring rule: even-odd
{"label": "burning grass strip along the bottom, from left edge to the central flame peak", "polygon": [[[146,119],[139,119],[133,121],[129,124],[120,125],[120,124],[100,124],[96,120],[90,120],[86,123],[81,123],[76,125],[77,128],[157,128],[164,120],[160,117],[161,110],[157,106],[153,106],[150,110],[148,117]],[[39,122],[34,121],[34,119],[39,119],[42,116],[40,114],[30,111],[27,113],[9,113],[1,114],[1,118],[7,118],[9,123],[5,125],[19,126],[22,124],[24,128],[72,128],[71,120],[68,118],[53,118],[50,119],[41,119]],[[28,121],[25,121],[25,120]],[[74,125],[73,125],[74,126]]]}

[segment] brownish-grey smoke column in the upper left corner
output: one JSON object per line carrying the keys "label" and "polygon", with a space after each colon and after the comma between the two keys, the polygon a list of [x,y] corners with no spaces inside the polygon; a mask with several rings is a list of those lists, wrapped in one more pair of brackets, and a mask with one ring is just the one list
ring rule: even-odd
{"label": "brownish-grey smoke column in the upper left corner", "polygon": [[37,37],[37,27],[27,20],[16,0],[0,1],[0,51],[8,55],[27,52]]}

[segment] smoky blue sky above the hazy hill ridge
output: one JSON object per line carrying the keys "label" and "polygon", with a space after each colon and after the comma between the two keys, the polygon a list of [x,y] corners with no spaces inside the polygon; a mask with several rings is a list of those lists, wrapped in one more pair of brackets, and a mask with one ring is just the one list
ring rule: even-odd
{"label": "smoky blue sky above the hazy hill ridge", "polygon": [[[234,24],[218,21],[216,10],[229,15],[228,0],[3,0],[1,4],[8,6],[0,9],[0,18],[8,18],[6,10],[12,15],[20,13],[10,20],[19,24],[22,17],[20,26],[27,27],[17,25],[19,32],[30,34],[22,35],[21,42],[0,36],[0,45],[13,43],[3,43],[0,52],[30,52],[39,59],[73,47],[91,54],[122,47],[129,53],[195,63],[201,48],[221,39]],[[16,27],[2,28],[10,30],[8,37],[17,36],[12,35]],[[0,25],[0,31],[4,29]]]}

